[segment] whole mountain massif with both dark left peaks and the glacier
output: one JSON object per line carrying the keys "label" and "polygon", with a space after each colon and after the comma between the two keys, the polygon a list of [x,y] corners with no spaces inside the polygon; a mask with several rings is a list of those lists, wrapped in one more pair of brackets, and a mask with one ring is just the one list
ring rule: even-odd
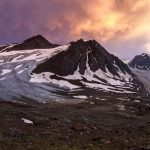
{"label": "whole mountain massif with both dark left peaks and the glacier", "polygon": [[0,99],[45,101],[145,93],[128,66],[95,40],[81,39],[62,46],[48,43],[35,36],[2,48]]}

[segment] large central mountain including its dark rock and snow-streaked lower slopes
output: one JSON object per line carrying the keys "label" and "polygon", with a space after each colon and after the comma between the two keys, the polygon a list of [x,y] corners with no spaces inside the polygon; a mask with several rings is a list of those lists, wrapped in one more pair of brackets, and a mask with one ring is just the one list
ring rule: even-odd
{"label": "large central mountain including its dark rock and snow-streaked lower slopes", "polygon": [[[71,42],[33,70],[33,82],[67,82],[76,88],[92,88],[116,93],[142,92],[143,86],[116,56],[95,40]],[[59,84],[59,83],[58,83]],[[68,85],[71,87],[71,85]]]}

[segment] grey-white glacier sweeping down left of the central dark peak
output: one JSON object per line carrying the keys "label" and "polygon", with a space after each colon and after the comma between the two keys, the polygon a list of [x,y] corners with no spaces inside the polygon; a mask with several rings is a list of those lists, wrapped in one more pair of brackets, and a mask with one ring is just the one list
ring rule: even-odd
{"label": "grey-white glacier sweeping down left of the central dark peak", "polygon": [[69,45],[52,49],[35,49],[0,53],[0,99],[30,98],[49,100],[55,97],[51,84],[29,82],[32,70],[39,64],[64,51]]}

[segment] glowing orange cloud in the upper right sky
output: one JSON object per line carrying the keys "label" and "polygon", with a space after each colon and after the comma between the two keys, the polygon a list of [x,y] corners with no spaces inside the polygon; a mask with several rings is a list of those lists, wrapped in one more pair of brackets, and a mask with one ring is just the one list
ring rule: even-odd
{"label": "glowing orange cloud in the upper right sky", "polygon": [[[77,11],[66,17],[71,24],[71,37],[92,36],[102,42],[128,40],[149,34],[150,1],[148,0],[83,0],[77,1],[86,16]],[[148,31],[149,30],[149,31]]]}

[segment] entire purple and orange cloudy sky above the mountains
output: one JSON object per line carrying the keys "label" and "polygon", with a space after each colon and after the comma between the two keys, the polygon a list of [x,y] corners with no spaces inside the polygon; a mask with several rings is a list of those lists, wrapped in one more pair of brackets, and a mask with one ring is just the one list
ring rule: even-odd
{"label": "entire purple and orange cloudy sky above the mountains", "polygon": [[37,34],[95,39],[123,59],[150,54],[150,0],[0,0],[0,45]]}

